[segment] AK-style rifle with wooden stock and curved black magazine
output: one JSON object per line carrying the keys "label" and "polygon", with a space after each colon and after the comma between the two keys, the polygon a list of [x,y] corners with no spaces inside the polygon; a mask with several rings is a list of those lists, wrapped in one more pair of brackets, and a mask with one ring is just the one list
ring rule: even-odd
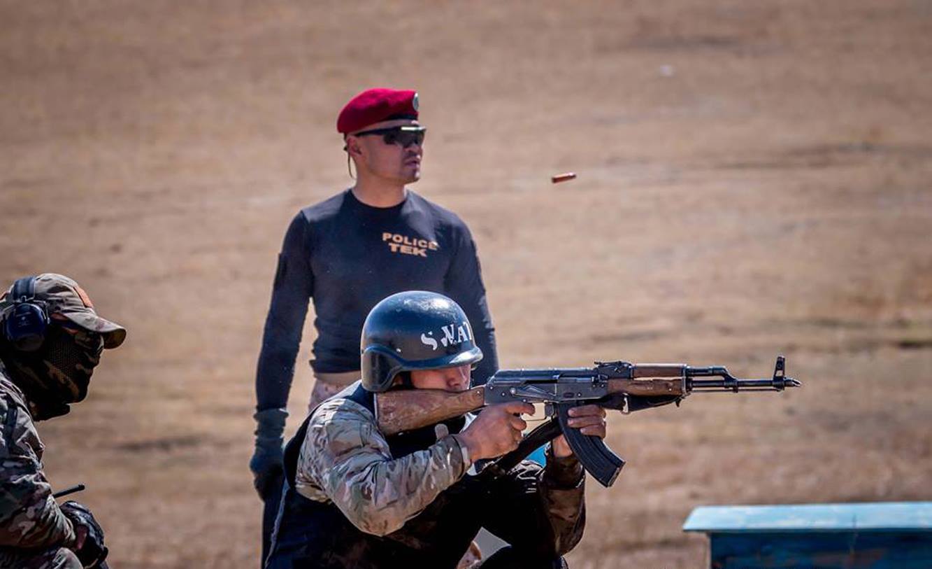
{"label": "AK-style rifle with wooden stock and curved black magazine", "polygon": [[[702,379],[718,378],[718,379]],[[570,408],[594,403],[629,413],[679,402],[693,392],[783,391],[802,383],[786,376],[786,360],[776,358],[774,377],[747,380],[721,366],[596,362],[595,368],[501,369],[484,386],[450,393],[437,389],[389,391],[376,396],[376,420],[386,435],[458,417],[487,405],[522,401],[543,403],[551,420],[531,431],[515,451],[486,469],[507,472],[530,451],[563,434],[583,468],[603,486],[611,486],[624,460],[599,437],[568,426]],[[555,417],[555,419],[554,419]]]}

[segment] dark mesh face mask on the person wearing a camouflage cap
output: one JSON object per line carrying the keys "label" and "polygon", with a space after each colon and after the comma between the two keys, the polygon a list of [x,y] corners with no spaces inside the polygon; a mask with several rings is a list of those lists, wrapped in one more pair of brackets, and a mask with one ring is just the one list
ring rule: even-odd
{"label": "dark mesh face mask on the person wearing a camouflage cap", "polygon": [[42,347],[35,352],[20,352],[7,344],[0,356],[29,400],[34,419],[41,421],[67,413],[69,403],[88,396],[90,376],[101,352],[99,335],[72,334],[49,326]]}

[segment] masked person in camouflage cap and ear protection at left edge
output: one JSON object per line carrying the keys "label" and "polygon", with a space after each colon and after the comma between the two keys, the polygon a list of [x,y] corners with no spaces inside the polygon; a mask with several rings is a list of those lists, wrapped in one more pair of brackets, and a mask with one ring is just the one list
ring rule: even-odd
{"label": "masked person in camouflage cap and ear protection at left edge", "polygon": [[103,350],[125,339],[61,274],[21,278],[0,297],[0,567],[106,566],[90,510],[52,496],[34,422],[83,400]]}

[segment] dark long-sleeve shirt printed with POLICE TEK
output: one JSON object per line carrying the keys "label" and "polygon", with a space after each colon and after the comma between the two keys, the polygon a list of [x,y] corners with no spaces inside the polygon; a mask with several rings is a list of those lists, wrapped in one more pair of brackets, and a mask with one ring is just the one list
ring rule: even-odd
{"label": "dark long-sleeve shirt printed with POLICE TEK", "polygon": [[407,190],[388,208],[350,190],[301,210],[285,233],[256,372],[257,409],[283,408],[295,373],[301,329],[313,298],[317,328],[312,367],[360,368],[363,321],[382,298],[428,290],[459,303],[484,354],[473,371],[485,383],[498,368],[475,243],[459,216]]}

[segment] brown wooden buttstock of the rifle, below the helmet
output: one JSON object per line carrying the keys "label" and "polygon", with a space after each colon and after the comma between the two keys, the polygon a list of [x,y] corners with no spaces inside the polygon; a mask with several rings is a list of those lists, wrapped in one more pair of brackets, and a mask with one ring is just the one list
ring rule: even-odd
{"label": "brown wooden buttstock of the rifle, below the helmet", "polygon": [[484,387],[460,393],[442,389],[405,389],[376,394],[376,421],[384,435],[395,435],[440,423],[481,409],[486,404]]}

